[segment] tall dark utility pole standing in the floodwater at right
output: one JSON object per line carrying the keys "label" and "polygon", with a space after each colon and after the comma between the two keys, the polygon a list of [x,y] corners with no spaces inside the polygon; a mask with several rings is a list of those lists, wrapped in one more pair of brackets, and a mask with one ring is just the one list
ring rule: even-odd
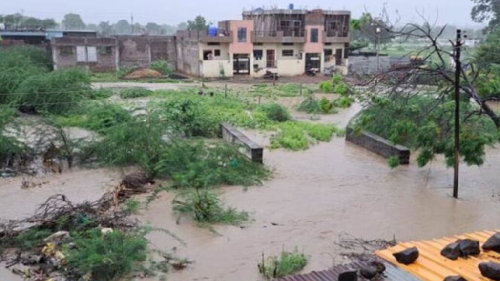
{"label": "tall dark utility pole standing in the floodwater at right", "polygon": [[453,197],[458,198],[458,171],[460,168],[460,72],[462,69],[460,54],[462,30],[456,30],[455,42],[455,161],[453,175]]}

